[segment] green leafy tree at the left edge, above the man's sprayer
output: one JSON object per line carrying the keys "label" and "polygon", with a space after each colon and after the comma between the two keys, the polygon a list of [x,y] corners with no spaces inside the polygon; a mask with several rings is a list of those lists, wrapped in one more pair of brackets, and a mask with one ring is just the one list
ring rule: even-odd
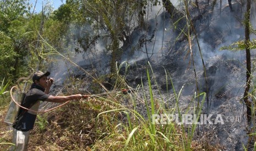
{"label": "green leafy tree at the left edge, above the man's sprayer", "polygon": [[31,40],[31,32],[26,24],[29,3],[12,0],[1,1],[0,4],[0,78],[15,80],[26,68],[25,58]]}

